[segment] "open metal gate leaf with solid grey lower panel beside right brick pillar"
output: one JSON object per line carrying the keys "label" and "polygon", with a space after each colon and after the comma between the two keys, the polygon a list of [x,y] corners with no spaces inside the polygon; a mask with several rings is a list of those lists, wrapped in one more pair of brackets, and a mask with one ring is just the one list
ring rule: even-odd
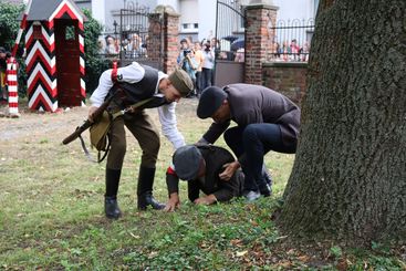
{"label": "open metal gate leaf with solid grey lower panel beside right brick pillar", "polygon": [[244,31],[244,6],[236,0],[217,0],[216,85],[243,82]]}

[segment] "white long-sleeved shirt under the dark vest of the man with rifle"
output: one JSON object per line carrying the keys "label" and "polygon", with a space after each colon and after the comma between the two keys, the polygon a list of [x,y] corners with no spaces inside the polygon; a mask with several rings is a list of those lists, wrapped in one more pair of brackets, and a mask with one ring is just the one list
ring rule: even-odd
{"label": "white long-sleeved shirt under the dark vest of the man with rifle", "polygon": [[[110,88],[113,86],[112,81],[112,71],[113,69],[106,70],[102,73],[98,80],[98,86],[93,92],[90,101],[93,106],[101,106],[104,102],[104,98],[108,94]],[[133,62],[131,65],[118,67],[117,69],[117,81],[118,82],[127,82],[129,84],[134,84],[139,82],[145,74],[145,70],[137,62]],[[167,77],[163,72],[158,72],[158,82],[155,87],[155,95],[162,96],[159,93],[159,82],[160,80]],[[179,133],[177,128],[177,121],[175,114],[176,103],[173,102],[170,104],[165,104],[163,106],[157,107],[159,122],[162,124],[162,132],[166,138],[174,145],[174,148],[177,149],[185,145],[185,138]]]}

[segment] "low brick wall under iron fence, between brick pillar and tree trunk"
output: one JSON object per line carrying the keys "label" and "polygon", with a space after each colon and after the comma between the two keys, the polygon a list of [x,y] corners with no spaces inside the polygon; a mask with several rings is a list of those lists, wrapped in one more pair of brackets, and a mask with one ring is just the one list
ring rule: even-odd
{"label": "low brick wall under iron fence, between brick pillar and tree trunk", "polygon": [[306,72],[308,63],[263,63],[262,84],[300,104],[306,90]]}

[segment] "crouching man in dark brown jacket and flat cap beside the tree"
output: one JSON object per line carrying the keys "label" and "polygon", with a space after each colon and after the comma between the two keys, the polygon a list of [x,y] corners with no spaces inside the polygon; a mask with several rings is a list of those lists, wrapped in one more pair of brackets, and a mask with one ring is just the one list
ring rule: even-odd
{"label": "crouching man in dark brown jacket and flat cap beside the tree", "polygon": [[[242,167],[246,175],[246,198],[269,196],[263,174],[263,156],[270,152],[294,154],[300,129],[300,108],[282,94],[260,85],[230,84],[223,88],[207,87],[199,100],[197,115],[215,123],[199,143],[215,143],[225,133],[225,140],[238,160],[222,174],[230,178]],[[228,128],[233,121],[238,126]]]}

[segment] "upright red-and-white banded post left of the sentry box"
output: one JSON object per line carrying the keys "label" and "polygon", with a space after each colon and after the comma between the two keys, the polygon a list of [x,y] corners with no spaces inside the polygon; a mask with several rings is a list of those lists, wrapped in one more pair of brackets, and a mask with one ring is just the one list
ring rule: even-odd
{"label": "upright red-and-white banded post left of the sentry box", "polygon": [[9,90],[9,113],[10,115],[19,114],[19,94],[17,82],[17,61],[13,56],[7,60],[7,83]]}

